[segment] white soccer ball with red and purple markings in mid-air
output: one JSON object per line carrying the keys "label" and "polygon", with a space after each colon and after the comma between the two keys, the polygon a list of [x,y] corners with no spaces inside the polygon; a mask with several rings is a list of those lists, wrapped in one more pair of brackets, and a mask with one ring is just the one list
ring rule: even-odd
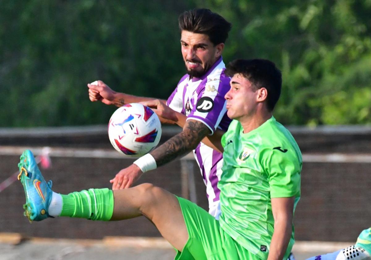
{"label": "white soccer ball with red and purple markings in mid-air", "polygon": [[149,107],[138,103],[126,104],[112,114],[108,137],[118,152],[140,157],[149,153],[160,141],[160,119]]}

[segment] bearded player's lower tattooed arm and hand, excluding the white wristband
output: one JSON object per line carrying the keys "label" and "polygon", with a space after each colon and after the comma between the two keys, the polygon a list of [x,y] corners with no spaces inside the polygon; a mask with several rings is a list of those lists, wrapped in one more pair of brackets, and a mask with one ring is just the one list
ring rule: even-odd
{"label": "bearded player's lower tattooed arm and hand, excluding the white wristband", "polygon": [[[209,133],[210,129],[204,123],[197,120],[188,120],[184,125],[183,131],[153,150],[150,153],[150,157],[154,159],[157,167],[164,165],[177,157],[189,153]],[[142,174],[142,170],[133,163],[128,168],[120,170],[115,178],[110,180],[112,189],[129,188]]]}

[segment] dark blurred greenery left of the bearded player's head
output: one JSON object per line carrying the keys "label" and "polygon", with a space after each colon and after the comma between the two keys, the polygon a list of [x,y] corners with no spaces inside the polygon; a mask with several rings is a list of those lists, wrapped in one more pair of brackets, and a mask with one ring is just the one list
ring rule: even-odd
{"label": "dark blurred greenery left of the bearded player's head", "polygon": [[96,124],[86,84],[166,98],[184,72],[173,1],[2,1],[1,126]]}

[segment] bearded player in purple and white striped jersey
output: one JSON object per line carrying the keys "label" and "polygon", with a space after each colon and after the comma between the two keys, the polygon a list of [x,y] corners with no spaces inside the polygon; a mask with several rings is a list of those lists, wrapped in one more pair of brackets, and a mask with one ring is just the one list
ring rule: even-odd
{"label": "bearded player in purple and white striped jersey", "polygon": [[[230,78],[224,74],[222,59],[224,42],[231,24],[219,14],[207,9],[186,11],[179,16],[181,52],[187,74],[179,81],[168,100],[136,97],[111,90],[104,82],[88,84],[91,101],[101,101],[118,107],[127,103],[154,108],[162,123],[178,124],[183,131],[151,153],[122,169],[110,182],[112,189],[128,188],[142,173],[164,165],[193,150],[206,184],[209,212],[218,218],[219,189],[223,156],[206,146],[209,136],[221,136],[229,126],[224,95],[229,91]],[[177,111],[176,116],[169,108]],[[203,142],[201,142],[203,141]]]}

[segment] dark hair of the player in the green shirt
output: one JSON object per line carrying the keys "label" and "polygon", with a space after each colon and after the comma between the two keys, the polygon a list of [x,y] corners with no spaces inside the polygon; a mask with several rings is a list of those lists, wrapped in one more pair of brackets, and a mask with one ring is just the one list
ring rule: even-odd
{"label": "dark hair of the player in the green shirt", "polygon": [[242,74],[252,83],[255,90],[266,88],[267,107],[270,111],[273,110],[281,94],[282,85],[281,72],[273,62],[266,59],[236,59],[226,66],[225,73],[229,77]]}

